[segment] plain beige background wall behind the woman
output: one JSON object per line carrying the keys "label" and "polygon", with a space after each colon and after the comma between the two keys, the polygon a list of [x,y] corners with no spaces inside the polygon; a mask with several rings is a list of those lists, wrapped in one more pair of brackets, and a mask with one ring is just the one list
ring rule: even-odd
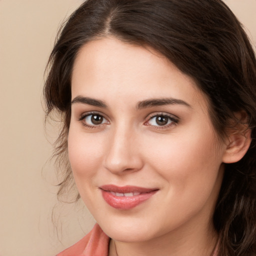
{"label": "plain beige background wall behind the woman", "polygon": [[[93,225],[82,203],[56,204],[41,107],[43,71],[57,27],[81,2],[0,0],[0,256],[54,255]],[[256,0],[226,2],[255,45]],[[53,207],[62,227],[58,236]]]}

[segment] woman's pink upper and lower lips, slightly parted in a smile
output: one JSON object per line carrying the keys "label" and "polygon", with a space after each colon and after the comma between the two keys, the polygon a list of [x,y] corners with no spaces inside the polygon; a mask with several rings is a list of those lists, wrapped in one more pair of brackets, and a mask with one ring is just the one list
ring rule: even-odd
{"label": "woman's pink upper and lower lips, slightly parted in a smile", "polygon": [[[102,197],[113,208],[116,209],[131,209],[140,203],[148,200],[155,194],[158,188],[145,188],[139,186],[116,186],[116,185],[103,185],[101,189]],[[116,195],[119,194],[118,195]],[[122,193],[123,195],[120,195]],[[126,195],[125,195],[126,193]]]}

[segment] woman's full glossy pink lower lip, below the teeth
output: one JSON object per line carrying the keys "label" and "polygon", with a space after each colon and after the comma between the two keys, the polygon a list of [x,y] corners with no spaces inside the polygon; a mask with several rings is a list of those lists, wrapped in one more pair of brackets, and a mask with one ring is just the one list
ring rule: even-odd
{"label": "woman's full glossy pink lower lip, below the teeth", "polygon": [[116,196],[109,191],[101,190],[104,200],[116,209],[131,209],[149,199],[157,190],[141,193],[133,196]]}

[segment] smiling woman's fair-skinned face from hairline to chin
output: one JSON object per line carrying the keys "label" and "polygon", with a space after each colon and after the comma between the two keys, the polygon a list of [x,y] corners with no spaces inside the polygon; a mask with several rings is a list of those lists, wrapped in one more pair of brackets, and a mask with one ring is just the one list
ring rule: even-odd
{"label": "smiling woman's fair-skinned face from hairline to chin", "polygon": [[210,227],[226,145],[192,78],[110,37],[80,49],[71,91],[69,160],[106,234],[145,241]]}

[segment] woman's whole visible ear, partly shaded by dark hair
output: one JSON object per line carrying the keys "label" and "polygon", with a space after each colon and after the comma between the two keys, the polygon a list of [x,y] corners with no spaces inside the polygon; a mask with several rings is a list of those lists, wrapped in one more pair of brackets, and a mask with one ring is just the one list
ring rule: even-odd
{"label": "woman's whole visible ear, partly shaded by dark hair", "polygon": [[247,114],[244,112],[235,113],[234,123],[227,136],[226,148],[222,156],[224,163],[239,161],[247,152],[251,142],[251,129],[248,128]]}

